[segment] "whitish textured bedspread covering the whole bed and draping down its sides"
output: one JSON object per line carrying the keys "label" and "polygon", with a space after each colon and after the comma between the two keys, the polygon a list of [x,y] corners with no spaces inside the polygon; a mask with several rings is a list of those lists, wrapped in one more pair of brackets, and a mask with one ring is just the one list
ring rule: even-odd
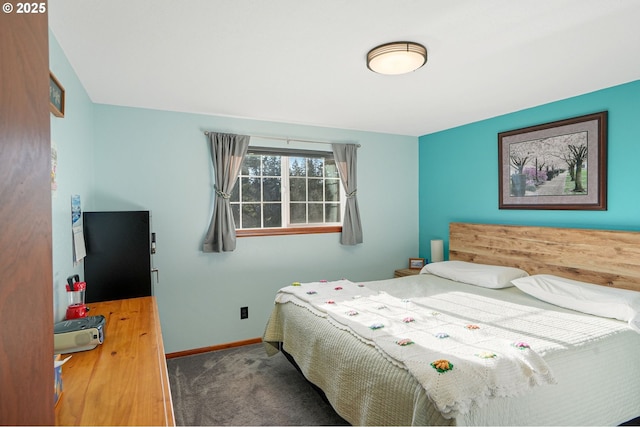
{"label": "whitish textured bedspread covering the whole bed and draping down its sides", "polygon": [[[624,322],[554,307],[516,288],[483,289],[431,275],[367,282],[366,286],[347,280],[299,285],[285,287],[276,296],[264,336],[267,351],[277,351],[269,343],[284,342],[305,376],[321,386],[336,410],[353,424],[613,425],[638,415],[640,365],[635,354],[640,337]],[[359,314],[349,316],[351,310]],[[385,323],[389,320],[380,314],[385,311],[395,323]],[[358,316],[363,320],[353,323],[352,317]],[[397,323],[398,317],[412,317],[414,322],[405,324],[401,319]],[[370,329],[372,323],[384,327]],[[414,329],[418,323],[428,327]],[[479,328],[466,329],[469,324]],[[460,325],[462,328],[454,329]],[[426,365],[428,377],[437,380],[432,384],[417,379],[421,374],[414,373],[410,355],[438,332],[449,334],[437,342],[446,343],[442,345],[450,347],[447,351],[453,349],[441,358],[451,361],[454,369],[437,373],[431,368],[431,359],[439,355],[420,362]],[[551,377],[544,374],[543,366],[548,364],[557,385],[527,385],[518,397],[501,397],[504,393],[496,390],[487,402],[482,397],[473,401],[466,414],[464,404],[443,406],[438,403],[442,396],[434,395],[433,390],[442,387],[442,380],[453,381],[467,369],[466,359],[461,362],[453,357],[474,345],[461,341],[456,348],[458,342],[451,338],[460,334],[487,335],[490,341],[509,345],[514,341],[529,344],[534,357],[516,365],[530,369],[528,363],[535,362],[536,374],[523,376],[546,383]],[[376,337],[383,339],[373,339]],[[403,338],[414,344],[396,344]],[[502,355],[516,350],[493,348],[482,340],[475,344],[481,347],[471,357],[476,363],[476,358],[480,360],[476,353]],[[537,365],[538,356],[545,365]],[[498,366],[503,359],[480,361]],[[459,415],[449,418],[454,413]]]}

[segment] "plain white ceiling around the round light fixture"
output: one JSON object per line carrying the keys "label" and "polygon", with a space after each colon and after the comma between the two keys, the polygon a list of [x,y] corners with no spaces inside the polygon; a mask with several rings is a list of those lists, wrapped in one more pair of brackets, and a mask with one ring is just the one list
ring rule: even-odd
{"label": "plain white ceiling around the round light fixture", "polygon": [[[640,79],[638,0],[50,0],[49,22],[96,103],[401,135]],[[368,70],[392,41],[427,64]]]}

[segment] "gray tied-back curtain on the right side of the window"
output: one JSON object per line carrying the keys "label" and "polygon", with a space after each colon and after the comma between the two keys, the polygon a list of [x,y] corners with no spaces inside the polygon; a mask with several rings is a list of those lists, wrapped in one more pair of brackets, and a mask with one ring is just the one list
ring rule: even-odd
{"label": "gray tied-back curtain on the right side of the window", "polygon": [[360,210],[358,209],[357,159],[358,146],[355,144],[331,144],[333,156],[336,159],[340,180],[347,193],[347,206],[344,210],[342,235],[340,243],[343,245],[357,245],[362,243],[362,224],[360,224]]}

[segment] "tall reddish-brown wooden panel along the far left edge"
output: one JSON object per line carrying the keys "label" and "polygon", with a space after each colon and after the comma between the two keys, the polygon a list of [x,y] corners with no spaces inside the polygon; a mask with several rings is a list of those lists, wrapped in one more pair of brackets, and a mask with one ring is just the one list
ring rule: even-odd
{"label": "tall reddish-brown wooden panel along the far left edge", "polygon": [[54,423],[48,43],[46,13],[0,12],[3,425]]}

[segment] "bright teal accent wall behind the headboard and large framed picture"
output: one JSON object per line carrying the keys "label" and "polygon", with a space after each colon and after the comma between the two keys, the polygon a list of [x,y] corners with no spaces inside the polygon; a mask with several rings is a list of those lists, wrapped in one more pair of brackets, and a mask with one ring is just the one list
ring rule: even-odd
{"label": "bright teal accent wall behind the headboard and large framed picture", "polygon": [[[498,133],[607,110],[608,210],[499,210]],[[420,137],[420,254],[450,222],[640,229],[640,81]]]}

